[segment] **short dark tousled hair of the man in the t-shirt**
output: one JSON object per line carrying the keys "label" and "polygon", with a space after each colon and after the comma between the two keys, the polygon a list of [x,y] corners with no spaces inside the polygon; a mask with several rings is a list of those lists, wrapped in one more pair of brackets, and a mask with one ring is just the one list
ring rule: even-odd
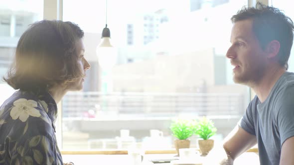
{"label": "short dark tousled hair of the man in the t-shirt", "polygon": [[245,19],[253,20],[253,32],[263,49],[273,40],[280,42],[279,63],[288,70],[288,60],[293,44],[292,19],[280,9],[260,2],[257,2],[256,7],[243,7],[231,18],[233,23]]}

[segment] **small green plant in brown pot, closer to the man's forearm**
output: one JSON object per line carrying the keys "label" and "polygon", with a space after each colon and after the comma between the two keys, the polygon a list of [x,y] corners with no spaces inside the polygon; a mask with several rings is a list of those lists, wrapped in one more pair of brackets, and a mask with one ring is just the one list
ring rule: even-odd
{"label": "small green plant in brown pot, closer to the man's forearm", "polygon": [[207,155],[214,145],[214,140],[209,138],[216,133],[217,129],[214,127],[214,123],[206,117],[200,119],[196,127],[195,135],[203,139],[198,140],[200,152],[202,155]]}

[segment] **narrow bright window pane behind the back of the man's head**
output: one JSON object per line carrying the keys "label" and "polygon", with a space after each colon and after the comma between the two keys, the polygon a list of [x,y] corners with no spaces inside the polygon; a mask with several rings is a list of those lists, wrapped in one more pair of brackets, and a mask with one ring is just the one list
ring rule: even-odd
{"label": "narrow bright window pane behind the back of the man's head", "polygon": [[[272,0],[272,5],[284,11],[285,15],[289,16],[294,21],[294,11],[291,8],[290,0]],[[289,72],[294,72],[294,47],[292,46],[291,54],[289,57]]]}

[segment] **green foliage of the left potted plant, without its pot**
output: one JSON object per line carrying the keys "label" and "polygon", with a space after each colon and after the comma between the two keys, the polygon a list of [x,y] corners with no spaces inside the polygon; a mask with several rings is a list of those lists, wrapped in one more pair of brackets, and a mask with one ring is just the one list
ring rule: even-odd
{"label": "green foliage of the left potted plant, without its pot", "polygon": [[178,119],[170,125],[172,135],[179,140],[186,140],[195,132],[194,122],[191,120]]}

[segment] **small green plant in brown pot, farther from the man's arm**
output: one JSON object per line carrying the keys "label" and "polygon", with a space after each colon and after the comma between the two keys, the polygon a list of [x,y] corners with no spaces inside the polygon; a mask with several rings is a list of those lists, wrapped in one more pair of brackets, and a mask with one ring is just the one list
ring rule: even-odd
{"label": "small green plant in brown pot, farther from the man's arm", "polygon": [[195,132],[194,122],[191,120],[179,119],[171,123],[170,130],[172,135],[177,138],[174,141],[174,146],[177,154],[179,155],[179,149],[190,148],[190,140]]}

